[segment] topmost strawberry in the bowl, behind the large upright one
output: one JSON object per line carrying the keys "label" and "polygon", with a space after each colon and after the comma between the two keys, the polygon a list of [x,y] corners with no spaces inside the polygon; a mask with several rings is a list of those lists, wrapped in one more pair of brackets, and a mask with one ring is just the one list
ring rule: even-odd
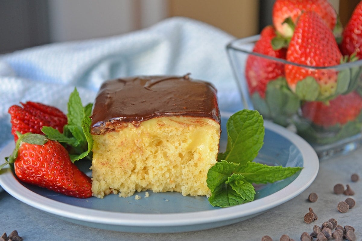
{"label": "topmost strawberry in the bowl, behind the large upright one", "polygon": [[328,0],[276,0],[273,5],[272,21],[275,29],[284,37],[291,37],[293,30],[283,22],[290,17],[296,23],[302,12],[313,11],[333,30],[337,23],[337,13]]}

